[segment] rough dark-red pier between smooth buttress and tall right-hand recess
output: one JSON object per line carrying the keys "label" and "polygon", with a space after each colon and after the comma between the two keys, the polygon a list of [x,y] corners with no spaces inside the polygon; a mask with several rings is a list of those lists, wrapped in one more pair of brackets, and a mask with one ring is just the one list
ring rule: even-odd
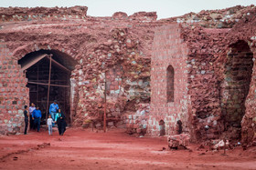
{"label": "rough dark-red pier between smooth buttress and tall right-hand recess", "polygon": [[228,29],[184,27],[183,37],[189,48],[187,57],[188,95],[191,99],[193,139],[218,138],[224,130],[220,109],[220,82]]}

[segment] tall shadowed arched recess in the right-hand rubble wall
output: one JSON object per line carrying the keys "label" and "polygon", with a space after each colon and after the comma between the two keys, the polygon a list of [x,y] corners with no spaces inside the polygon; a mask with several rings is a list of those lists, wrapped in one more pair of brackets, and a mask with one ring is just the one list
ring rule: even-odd
{"label": "tall shadowed arched recess in the right-hand rubble wall", "polygon": [[231,45],[227,56],[221,92],[221,107],[226,130],[240,129],[245,114],[245,100],[251,84],[253,54],[249,45],[240,41]]}

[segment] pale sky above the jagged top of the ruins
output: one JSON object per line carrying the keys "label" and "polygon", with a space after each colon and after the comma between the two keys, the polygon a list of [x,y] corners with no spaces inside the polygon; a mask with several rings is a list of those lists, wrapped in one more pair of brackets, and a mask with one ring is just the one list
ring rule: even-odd
{"label": "pale sky above the jagged top of the ruins", "polygon": [[[223,9],[235,5],[256,5],[256,0],[1,0],[0,7],[88,6],[88,15],[112,16],[115,12],[127,15],[146,11],[157,12],[158,19],[185,15],[201,10]],[[1,15],[1,11],[0,11]]]}

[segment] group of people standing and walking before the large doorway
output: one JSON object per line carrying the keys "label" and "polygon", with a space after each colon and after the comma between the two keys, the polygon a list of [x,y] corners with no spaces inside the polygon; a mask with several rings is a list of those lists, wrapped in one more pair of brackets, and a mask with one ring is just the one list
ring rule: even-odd
{"label": "group of people standing and walking before the large doorway", "polygon": [[[36,130],[37,132],[40,131],[40,123],[42,118],[42,113],[39,110],[39,107],[32,103],[29,108],[27,108],[27,105],[24,106],[24,117],[25,117],[25,131],[24,135],[27,135],[27,126],[28,126],[28,120],[30,119],[30,129]],[[54,102],[49,106],[49,115],[47,120],[48,125],[48,135],[52,135],[52,127],[55,126],[57,123],[59,135],[63,135],[66,131],[67,123],[65,121],[65,115],[59,108],[59,105],[57,104],[57,101],[54,100]]]}

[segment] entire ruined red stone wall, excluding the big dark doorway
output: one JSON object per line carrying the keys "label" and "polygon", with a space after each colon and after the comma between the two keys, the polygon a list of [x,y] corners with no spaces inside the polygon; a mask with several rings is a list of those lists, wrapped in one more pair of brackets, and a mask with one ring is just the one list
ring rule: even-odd
{"label": "entire ruined red stone wall, excluding the big dark doorway", "polygon": [[[27,79],[17,60],[44,49],[57,50],[78,63],[71,74],[73,125],[86,126],[91,119],[101,117],[106,81],[108,125],[125,119],[127,126],[136,129],[142,125],[148,134],[159,135],[163,120],[165,134],[173,134],[180,119],[195,141],[234,136],[240,130],[245,143],[255,139],[253,5],[159,21],[155,13],[145,12],[92,17],[86,15],[84,6],[1,11],[1,133],[20,130],[20,109],[28,102]],[[248,50],[240,54],[238,42]],[[244,63],[251,65],[251,71],[245,70]],[[230,72],[229,66],[233,69]],[[237,73],[236,69],[243,71]],[[229,81],[247,74],[251,74],[250,85],[240,87],[240,83]],[[250,76],[240,82],[248,82]],[[246,98],[237,98],[239,95],[229,87],[238,87]],[[243,114],[237,116],[243,107]],[[241,125],[227,121],[227,117],[238,123],[243,117]]]}

